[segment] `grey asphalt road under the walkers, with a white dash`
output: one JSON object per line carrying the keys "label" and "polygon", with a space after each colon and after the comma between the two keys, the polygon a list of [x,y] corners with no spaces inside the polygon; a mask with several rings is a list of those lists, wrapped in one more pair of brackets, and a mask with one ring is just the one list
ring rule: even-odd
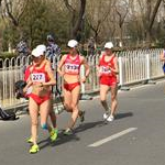
{"label": "grey asphalt road under the walkers, with a white dash", "polygon": [[0,165],[164,165],[164,82],[119,92],[118,114],[102,122],[99,99],[81,101],[86,121],[77,121],[75,134],[64,136],[68,113],[58,116],[59,136],[53,144],[40,129],[37,154],[29,154],[29,116],[0,121]]}

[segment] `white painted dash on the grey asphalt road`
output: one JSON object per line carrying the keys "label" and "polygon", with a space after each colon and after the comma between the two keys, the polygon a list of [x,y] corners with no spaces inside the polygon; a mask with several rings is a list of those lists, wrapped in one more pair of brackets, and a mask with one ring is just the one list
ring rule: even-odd
{"label": "white painted dash on the grey asphalt road", "polygon": [[124,134],[128,134],[128,133],[130,133],[130,132],[133,132],[133,131],[135,131],[138,128],[129,128],[129,129],[127,129],[127,130],[123,130],[123,131],[121,131],[121,132],[119,132],[119,133],[116,133],[116,134],[113,134],[113,135],[111,135],[111,136],[108,136],[108,138],[106,138],[106,139],[102,139],[102,140],[100,140],[100,141],[97,141],[97,142],[95,142],[95,143],[92,143],[92,144],[89,144],[88,146],[89,147],[97,147],[97,146],[100,146],[100,145],[102,145],[102,144],[105,144],[105,143],[107,143],[107,142],[110,142],[110,141],[112,141],[112,140],[116,140],[116,139],[118,139],[118,138],[120,138],[120,136],[122,136],[122,135],[124,135]]}

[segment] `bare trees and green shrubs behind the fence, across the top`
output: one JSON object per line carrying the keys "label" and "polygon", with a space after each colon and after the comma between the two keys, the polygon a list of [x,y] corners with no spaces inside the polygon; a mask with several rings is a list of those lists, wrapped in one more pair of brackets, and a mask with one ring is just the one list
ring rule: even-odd
{"label": "bare trees and green shrubs behind the fence, across the top", "polygon": [[32,48],[47,34],[62,48],[91,37],[97,46],[164,47],[165,0],[0,0],[0,52],[21,40]]}

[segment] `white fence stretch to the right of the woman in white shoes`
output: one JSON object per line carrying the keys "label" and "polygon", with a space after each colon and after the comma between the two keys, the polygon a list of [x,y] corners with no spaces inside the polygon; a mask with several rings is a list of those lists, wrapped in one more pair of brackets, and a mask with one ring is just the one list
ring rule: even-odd
{"label": "white fence stretch to the right of the woman in white shoes", "polygon": [[120,85],[129,85],[164,76],[160,55],[162,48],[120,53]]}

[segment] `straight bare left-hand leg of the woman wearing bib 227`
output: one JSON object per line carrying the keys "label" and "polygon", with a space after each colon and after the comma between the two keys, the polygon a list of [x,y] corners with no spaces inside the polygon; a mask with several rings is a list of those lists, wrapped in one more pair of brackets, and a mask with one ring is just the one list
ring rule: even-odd
{"label": "straight bare left-hand leg of the woman wearing bib 227", "polygon": [[32,134],[32,142],[33,144],[36,144],[37,139],[37,127],[38,127],[38,106],[37,103],[30,97],[29,100],[29,112],[31,117],[31,134]]}

